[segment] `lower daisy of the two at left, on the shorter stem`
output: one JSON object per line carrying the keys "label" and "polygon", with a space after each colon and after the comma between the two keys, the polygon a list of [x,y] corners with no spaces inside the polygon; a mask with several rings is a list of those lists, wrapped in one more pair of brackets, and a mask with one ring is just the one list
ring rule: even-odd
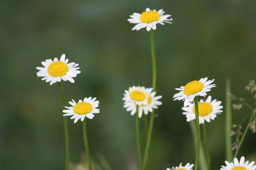
{"label": "lower daisy of the two at left, on the shorter stem", "polygon": [[94,117],[93,113],[100,113],[100,110],[97,109],[99,106],[99,101],[96,101],[96,97],[85,97],[83,100],[79,100],[76,103],[73,99],[69,102],[70,107],[65,106],[67,110],[63,110],[65,113],[63,116],[72,116],[71,119],[75,119],[74,123],[77,120],[84,120],[85,117],[92,119]]}

